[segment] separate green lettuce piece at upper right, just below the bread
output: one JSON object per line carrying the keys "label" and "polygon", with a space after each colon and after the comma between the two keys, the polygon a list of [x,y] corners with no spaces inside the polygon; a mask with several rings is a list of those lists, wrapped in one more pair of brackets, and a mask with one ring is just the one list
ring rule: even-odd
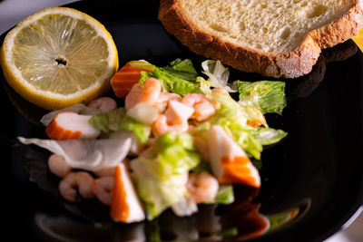
{"label": "separate green lettuce piece at upper right, just below the bread", "polygon": [[257,107],[262,113],[281,114],[287,105],[285,82],[236,82],[240,92],[240,102]]}

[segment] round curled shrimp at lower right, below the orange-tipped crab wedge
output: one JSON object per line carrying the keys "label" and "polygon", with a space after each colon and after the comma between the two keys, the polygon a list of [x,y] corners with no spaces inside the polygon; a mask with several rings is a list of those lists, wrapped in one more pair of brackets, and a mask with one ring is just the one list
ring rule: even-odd
{"label": "round curled shrimp at lower right, below the orange-tipped crab wedge", "polygon": [[187,182],[187,189],[196,203],[207,202],[216,197],[219,183],[208,172],[191,173]]}

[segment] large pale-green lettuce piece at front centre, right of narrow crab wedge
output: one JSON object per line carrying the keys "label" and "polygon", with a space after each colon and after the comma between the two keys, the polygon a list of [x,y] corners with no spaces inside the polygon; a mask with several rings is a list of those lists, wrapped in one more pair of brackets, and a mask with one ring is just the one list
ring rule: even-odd
{"label": "large pale-green lettuce piece at front centre, right of narrow crab wedge", "polygon": [[185,198],[185,182],[190,169],[197,167],[201,156],[188,133],[165,133],[156,140],[152,158],[132,160],[132,178],[145,205],[147,218]]}

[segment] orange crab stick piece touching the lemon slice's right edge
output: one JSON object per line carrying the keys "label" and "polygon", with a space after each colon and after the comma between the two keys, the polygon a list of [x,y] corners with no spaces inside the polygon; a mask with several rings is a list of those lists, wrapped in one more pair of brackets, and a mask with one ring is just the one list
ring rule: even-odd
{"label": "orange crab stick piece touching the lemon slice's right edge", "polygon": [[152,73],[155,66],[145,61],[131,61],[126,63],[117,73],[113,75],[111,85],[114,94],[119,98],[126,97],[132,85],[139,82],[141,72]]}

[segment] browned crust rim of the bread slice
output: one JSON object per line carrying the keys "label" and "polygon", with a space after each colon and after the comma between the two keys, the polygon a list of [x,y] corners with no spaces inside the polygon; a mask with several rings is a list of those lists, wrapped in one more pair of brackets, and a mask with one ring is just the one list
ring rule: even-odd
{"label": "browned crust rim of the bread slice", "polygon": [[222,63],[247,73],[260,73],[275,78],[297,78],[310,73],[321,49],[342,43],[358,34],[363,25],[362,4],[355,0],[347,13],[330,24],[310,31],[289,53],[264,53],[221,40],[191,23],[179,0],[161,0],[159,20],[166,31],[175,35],[193,53],[221,60]]}

